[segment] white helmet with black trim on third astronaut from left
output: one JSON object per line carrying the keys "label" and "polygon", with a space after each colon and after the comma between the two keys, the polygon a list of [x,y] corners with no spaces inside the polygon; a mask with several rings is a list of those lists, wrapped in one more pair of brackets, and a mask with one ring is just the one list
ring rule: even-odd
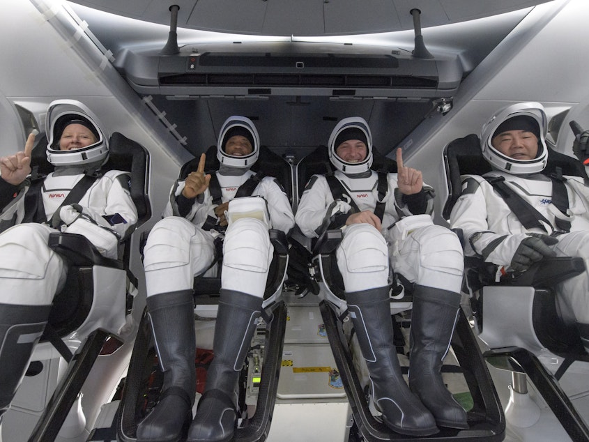
{"label": "white helmet with black trim on third astronaut from left", "polygon": [[[346,162],[337,156],[337,146],[349,139],[360,139],[366,144],[366,158],[360,162]],[[344,174],[361,174],[372,166],[372,134],[368,123],[361,116],[350,116],[335,125],[328,142],[329,160]]]}

